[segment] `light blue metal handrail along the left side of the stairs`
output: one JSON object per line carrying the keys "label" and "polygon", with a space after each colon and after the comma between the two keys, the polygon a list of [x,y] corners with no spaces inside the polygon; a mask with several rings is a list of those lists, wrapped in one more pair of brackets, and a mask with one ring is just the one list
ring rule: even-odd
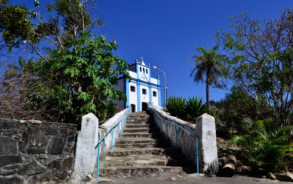
{"label": "light blue metal handrail along the left side of the stairs", "polygon": [[111,139],[111,151],[113,151],[113,129],[118,126],[118,136],[117,136],[117,141],[119,141],[119,124],[123,122],[123,124],[121,125],[121,134],[123,135],[123,130],[125,128],[125,124],[126,124],[126,115],[128,114],[128,116],[132,113],[132,106],[128,106],[128,108],[126,109],[125,114],[123,115],[123,117],[120,119],[120,121],[118,123],[116,123],[114,126],[112,126],[111,129],[108,130],[107,133],[105,133],[105,135],[99,140],[98,142],[98,162],[97,162],[97,179],[99,179],[99,166],[100,166],[100,143],[104,140],[104,138],[110,133],[110,131],[112,132],[112,139]]}

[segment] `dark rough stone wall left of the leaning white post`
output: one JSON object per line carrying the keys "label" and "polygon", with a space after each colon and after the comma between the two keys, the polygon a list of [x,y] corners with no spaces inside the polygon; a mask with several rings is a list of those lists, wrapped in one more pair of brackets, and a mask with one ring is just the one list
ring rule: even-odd
{"label": "dark rough stone wall left of the leaning white post", "polygon": [[76,124],[0,119],[0,183],[69,183]]}

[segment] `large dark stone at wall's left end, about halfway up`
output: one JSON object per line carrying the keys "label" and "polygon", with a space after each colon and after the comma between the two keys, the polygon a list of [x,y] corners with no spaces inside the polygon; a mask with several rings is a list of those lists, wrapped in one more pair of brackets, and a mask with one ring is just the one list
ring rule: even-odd
{"label": "large dark stone at wall's left end, about halfway up", "polygon": [[17,155],[16,140],[10,137],[0,137],[0,155]]}

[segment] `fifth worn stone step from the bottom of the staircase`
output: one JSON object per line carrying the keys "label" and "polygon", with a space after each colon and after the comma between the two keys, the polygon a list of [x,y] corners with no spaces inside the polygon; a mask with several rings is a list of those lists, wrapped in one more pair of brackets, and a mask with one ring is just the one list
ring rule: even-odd
{"label": "fifth worn stone step from the bottom of the staircase", "polygon": [[166,143],[168,145],[169,140],[161,138],[143,138],[143,137],[130,137],[130,138],[120,138],[116,144],[138,144],[138,143]]}

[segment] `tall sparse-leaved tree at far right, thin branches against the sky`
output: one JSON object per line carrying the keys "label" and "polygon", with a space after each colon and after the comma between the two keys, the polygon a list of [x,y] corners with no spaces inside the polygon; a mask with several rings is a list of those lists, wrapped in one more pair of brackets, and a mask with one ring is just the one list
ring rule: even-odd
{"label": "tall sparse-leaved tree at far right, thin branches against the sky", "polygon": [[229,28],[214,35],[231,55],[222,62],[222,79],[215,86],[227,91],[239,86],[251,98],[271,104],[271,117],[280,125],[293,124],[292,8],[281,10],[275,19],[245,11],[230,20]]}

